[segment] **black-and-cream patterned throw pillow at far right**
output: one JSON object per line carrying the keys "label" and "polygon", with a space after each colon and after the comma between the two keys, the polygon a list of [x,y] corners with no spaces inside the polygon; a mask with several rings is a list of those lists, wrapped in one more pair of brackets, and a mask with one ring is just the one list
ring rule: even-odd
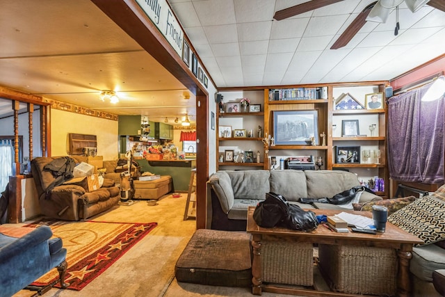
{"label": "black-and-cream patterned throw pillow at far right", "polygon": [[396,211],[388,221],[419,237],[424,244],[445,239],[445,201],[424,196]]}

